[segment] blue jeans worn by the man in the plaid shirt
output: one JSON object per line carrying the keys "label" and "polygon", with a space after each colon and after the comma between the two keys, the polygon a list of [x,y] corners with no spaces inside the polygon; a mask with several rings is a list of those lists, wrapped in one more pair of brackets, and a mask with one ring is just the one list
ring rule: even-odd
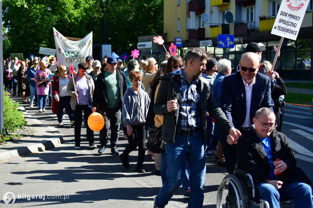
{"label": "blue jeans worn by the man in the plaid shirt", "polygon": [[182,174],[185,170],[185,161],[187,159],[190,171],[188,207],[202,207],[206,171],[202,131],[189,136],[176,135],[175,143],[166,144],[166,155],[167,164],[170,167],[166,171],[168,180],[163,184],[158,196],[156,196],[156,205],[158,207],[165,207],[175,191],[182,184]]}

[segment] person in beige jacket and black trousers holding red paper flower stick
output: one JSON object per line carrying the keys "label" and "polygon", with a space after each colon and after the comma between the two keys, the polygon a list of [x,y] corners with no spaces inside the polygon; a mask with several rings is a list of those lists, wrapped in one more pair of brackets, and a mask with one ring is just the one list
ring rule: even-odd
{"label": "person in beige jacket and black trousers holding red paper flower stick", "polygon": [[[92,81],[91,76],[86,72],[88,65],[86,63],[78,64],[78,73],[74,74],[69,80],[67,86],[67,94],[71,96],[71,108],[74,112],[74,121],[75,121],[75,149],[80,149],[80,135],[81,135],[81,124],[83,120],[83,112],[85,120],[88,120],[88,117],[92,113],[91,103],[93,101],[93,93],[95,89],[94,82]],[[89,148],[97,148],[94,144],[94,131],[92,131],[87,124],[87,137],[89,141]]]}

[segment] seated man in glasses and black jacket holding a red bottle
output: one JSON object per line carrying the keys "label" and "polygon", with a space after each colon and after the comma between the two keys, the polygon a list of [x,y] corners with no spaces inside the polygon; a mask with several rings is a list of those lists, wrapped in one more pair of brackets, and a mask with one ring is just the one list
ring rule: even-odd
{"label": "seated man in glasses and black jacket holding a red bottle", "polygon": [[[296,167],[287,136],[275,130],[274,112],[259,109],[253,123],[237,142],[238,168],[252,175],[259,197],[271,208],[280,207],[280,198],[294,199],[298,208],[313,208],[310,180]],[[275,178],[274,169],[281,173],[280,179]]]}

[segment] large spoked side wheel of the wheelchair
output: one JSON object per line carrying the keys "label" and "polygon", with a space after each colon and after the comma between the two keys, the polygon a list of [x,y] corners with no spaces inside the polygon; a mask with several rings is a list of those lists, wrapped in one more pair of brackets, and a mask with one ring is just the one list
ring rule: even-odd
{"label": "large spoked side wheel of the wheelchair", "polygon": [[218,187],[216,208],[247,208],[244,190],[239,179],[234,175],[224,177]]}

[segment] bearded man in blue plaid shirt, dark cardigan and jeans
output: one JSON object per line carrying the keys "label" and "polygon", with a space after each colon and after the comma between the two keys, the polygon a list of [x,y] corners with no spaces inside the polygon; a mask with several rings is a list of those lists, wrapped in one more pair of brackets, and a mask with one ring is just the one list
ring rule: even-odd
{"label": "bearded man in blue plaid shirt, dark cardigan and jeans", "polygon": [[[201,77],[206,69],[207,58],[207,53],[201,48],[188,50],[185,68],[177,72],[181,75],[181,80],[174,82],[174,99],[169,97],[170,83],[161,81],[153,109],[157,115],[164,116],[162,139],[166,142],[168,180],[155,197],[154,208],[165,207],[182,184],[181,176],[186,159],[190,170],[188,207],[202,207],[206,170],[204,144],[207,138],[207,112],[235,139],[241,136],[240,131],[233,128],[218,107],[208,81]],[[176,116],[171,111],[175,111]]]}

